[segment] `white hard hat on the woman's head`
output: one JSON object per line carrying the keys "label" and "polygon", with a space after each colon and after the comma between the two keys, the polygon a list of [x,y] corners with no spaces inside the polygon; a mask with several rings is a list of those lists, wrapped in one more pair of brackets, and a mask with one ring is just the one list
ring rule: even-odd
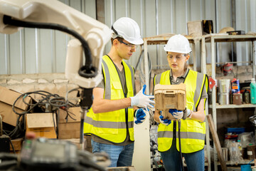
{"label": "white hard hat on the woman's head", "polygon": [[172,36],[164,46],[164,51],[190,53],[191,48],[189,46],[188,38],[182,36],[181,34]]}

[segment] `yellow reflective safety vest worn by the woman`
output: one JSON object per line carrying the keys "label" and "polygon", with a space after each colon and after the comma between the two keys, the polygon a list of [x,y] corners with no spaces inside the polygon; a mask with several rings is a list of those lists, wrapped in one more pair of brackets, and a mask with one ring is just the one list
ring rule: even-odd
{"label": "yellow reflective safety vest worn by the woman", "polygon": [[[170,85],[170,71],[165,71],[159,74],[161,76],[160,84]],[[157,76],[157,75],[156,75]],[[154,83],[156,77],[154,78]],[[198,104],[201,100],[203,92],[203,86],[206,85],[206,91],[208,91],[208,78],[205,74],[198,73],[196,71],[188,71],[184,83],[186,84],[186,108],[196,111]],[[197,86],[200,85],[200,86]],[[196,90],[196,88],[198,90]],[[206,104],[206,99],[205,99]],[[204,111],[206,114],[206,110]],[[167,151],[171,148],[174,135],[174,122],[166,126],[159,124],[158,128],[158,150],[160,152]],[[176,125],[176,147],[179,151],[178,143],[178,124]],[[205,144],[206,137],[206,122],[198,122],[187,118],[181,120],[181,152],[191,153],[198,150],[202,150]]]}

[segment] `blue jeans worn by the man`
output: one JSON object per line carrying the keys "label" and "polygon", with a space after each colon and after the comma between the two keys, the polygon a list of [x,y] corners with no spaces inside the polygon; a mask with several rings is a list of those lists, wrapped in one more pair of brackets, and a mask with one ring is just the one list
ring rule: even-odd
{"label": "blue jeans worn by the man", "polygon": [[134,143],[129,145],[107,145],[92,140],[92,152],[107,152],[110,157],[109,167],[124,167],[132,165]]}

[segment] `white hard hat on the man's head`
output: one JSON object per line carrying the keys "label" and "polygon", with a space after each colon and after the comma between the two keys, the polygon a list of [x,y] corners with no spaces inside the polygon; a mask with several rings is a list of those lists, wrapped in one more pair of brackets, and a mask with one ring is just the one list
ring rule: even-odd
{"label": "white hard hat on the man's head", "polygon": [[128,17],[122,17],[112,26],[112,38],[122,37],[129,43],[139,45],[143,43],[139,26],[136,21]]}

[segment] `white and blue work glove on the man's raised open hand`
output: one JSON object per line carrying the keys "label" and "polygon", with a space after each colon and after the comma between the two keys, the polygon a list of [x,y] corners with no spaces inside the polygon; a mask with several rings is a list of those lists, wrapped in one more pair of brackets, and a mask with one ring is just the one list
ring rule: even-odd
{"label": "white and blue work glove on the man's raised open hand", "polygon": [[145,95],[146,85],[143,86],[142,90],[137,93],[134,97],[131,98],[131,106],[138,106],[140,108],[145,108],[147,111],[149,111],[150,108],[154,108],[154,95]]}

